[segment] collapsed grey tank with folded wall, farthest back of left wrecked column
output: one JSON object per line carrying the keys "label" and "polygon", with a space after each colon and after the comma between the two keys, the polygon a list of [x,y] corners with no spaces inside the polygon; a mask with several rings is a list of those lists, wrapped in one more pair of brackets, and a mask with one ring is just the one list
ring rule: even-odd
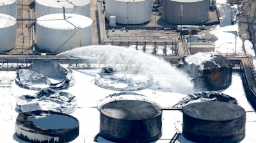
{"label": "collapsed grey tank with folded wall, farthest back of left wrecked column", "polygon": [[21,87],[33,90],[60,90],[75,84],[72,72],[54,60],[38,60],[27,69],[17,70],[15,82]]}

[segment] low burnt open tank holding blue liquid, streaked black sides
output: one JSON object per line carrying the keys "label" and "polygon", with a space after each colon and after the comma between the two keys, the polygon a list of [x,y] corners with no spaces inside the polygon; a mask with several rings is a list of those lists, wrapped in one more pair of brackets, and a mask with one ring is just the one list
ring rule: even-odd
{"label": "low burnt open tank holding blue liquid, streaked black sides", "polygon": [[59,112],[21,112],[16,119],[16,135],[27,142],[68,142],[79,135],[79,122]]}

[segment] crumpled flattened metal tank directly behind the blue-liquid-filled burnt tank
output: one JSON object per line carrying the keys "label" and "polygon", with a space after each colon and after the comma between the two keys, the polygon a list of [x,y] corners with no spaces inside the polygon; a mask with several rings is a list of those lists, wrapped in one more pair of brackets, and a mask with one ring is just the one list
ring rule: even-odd
{"label": "crumpled flattened metal tank directly behind the blue-liquid-filled burnt tank", "polygon": [[77,109],[76,96],[63,91],[43,89],[35,94],[24,94],[17,98],[16,108],[20,112],[51,110],[71,114]]}

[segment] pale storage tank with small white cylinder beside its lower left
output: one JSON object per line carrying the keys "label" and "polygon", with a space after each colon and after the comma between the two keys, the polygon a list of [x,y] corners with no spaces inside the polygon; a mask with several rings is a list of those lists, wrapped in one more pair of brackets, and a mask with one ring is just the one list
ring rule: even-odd
{"label": "pale storage tank with small white cylinder beside its lower left", "polygon": [[108,0],[106,19],[116,16],[118,24],[143,24],[151,20],[152,0]]}

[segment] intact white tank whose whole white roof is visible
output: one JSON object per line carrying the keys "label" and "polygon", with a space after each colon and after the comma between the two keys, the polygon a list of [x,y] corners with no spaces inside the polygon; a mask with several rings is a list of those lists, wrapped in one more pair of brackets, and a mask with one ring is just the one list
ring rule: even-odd
{"label": "intact white tank whose whole white roof is visible", "polygon": [[92,19],[70,13],[39,17],[36,20],[36,47],[60,53],[92,45],[92,24]]}

